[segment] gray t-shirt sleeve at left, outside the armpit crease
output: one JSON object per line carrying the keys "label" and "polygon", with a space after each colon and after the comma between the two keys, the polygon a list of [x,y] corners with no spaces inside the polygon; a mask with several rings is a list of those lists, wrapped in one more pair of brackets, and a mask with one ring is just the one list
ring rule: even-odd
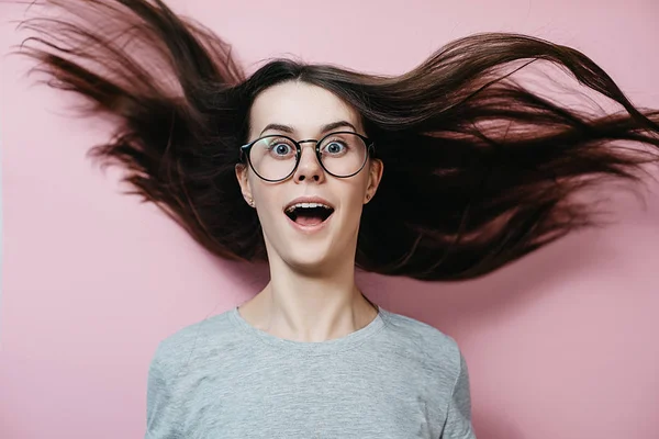
{"label": "gray t-shirt sleeve at left, outside the armpit crease", "polygon": [[176,424],[176,401],[172,395],[172,383],[161,361],[161,345],[156,349],[149,368],[146,387],[146,432],[144,439],[179,439]]}

